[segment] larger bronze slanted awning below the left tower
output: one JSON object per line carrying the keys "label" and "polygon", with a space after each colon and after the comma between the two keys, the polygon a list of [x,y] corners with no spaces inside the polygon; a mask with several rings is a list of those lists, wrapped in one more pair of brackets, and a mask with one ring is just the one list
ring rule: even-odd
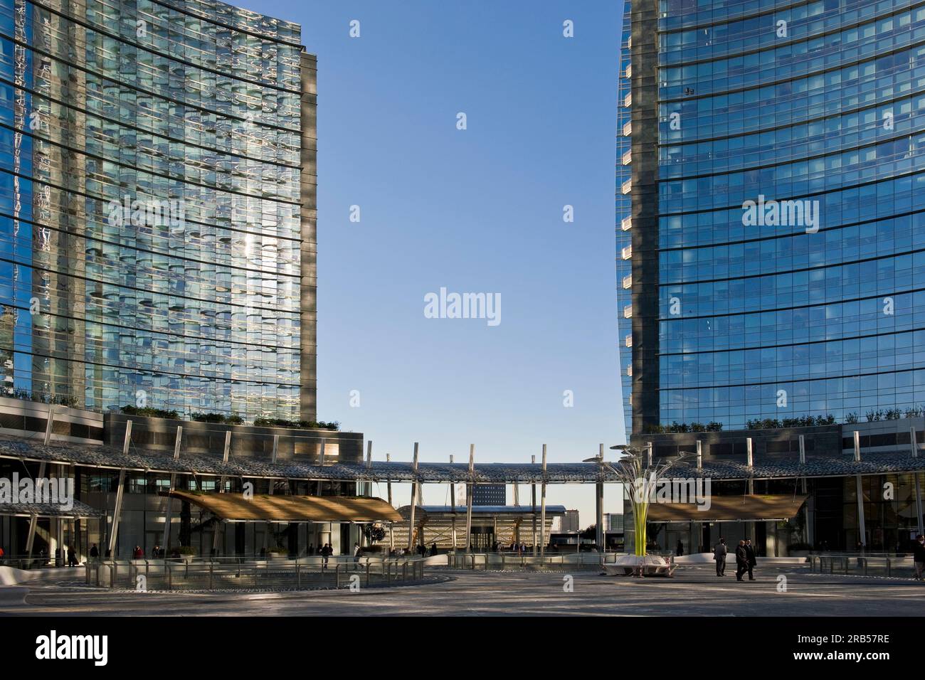
{"label": "larger bronze slanted awning below the left tower", "polygon": [[401,515],[378,498],[349,496],[268,496],[171,491],[228,522],[401,522]]}

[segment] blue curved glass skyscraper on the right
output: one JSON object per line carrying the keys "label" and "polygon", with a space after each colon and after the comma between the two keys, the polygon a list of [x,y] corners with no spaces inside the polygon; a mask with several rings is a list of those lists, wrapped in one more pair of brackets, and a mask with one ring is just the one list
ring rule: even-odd
{"label": "blue curved glass skyscraper on the right", "polygon": [[925,4],[633,0],[623,56],[632,431],[919,413]]}

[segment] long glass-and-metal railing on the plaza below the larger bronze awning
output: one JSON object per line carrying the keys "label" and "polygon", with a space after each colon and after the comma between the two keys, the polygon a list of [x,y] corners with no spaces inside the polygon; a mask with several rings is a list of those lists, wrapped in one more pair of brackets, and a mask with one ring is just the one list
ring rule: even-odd
{"label": "long glass-and-metal railing on the plaza below the larger bronze awning", "polygon": [[103,560],[85,564],[88,586],[133,590],[314,589],[389,586],[420,581],[424,560],[350,557],[245,560]]}

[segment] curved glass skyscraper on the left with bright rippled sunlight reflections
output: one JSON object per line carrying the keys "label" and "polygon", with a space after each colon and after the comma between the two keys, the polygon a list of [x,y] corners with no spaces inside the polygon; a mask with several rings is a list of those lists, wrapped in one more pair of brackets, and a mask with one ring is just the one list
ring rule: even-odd
{"label": "curved glass skyscraper on the left with bright rippled sunlight reflections", "polygon": [[314,420],[300,41],[209,0],[0,0],[5,395]]}

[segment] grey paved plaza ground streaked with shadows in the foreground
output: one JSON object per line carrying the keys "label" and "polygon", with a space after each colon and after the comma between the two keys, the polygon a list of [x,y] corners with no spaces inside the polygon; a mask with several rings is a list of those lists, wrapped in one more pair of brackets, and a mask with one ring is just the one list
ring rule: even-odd
{"label": "grey paved plaza ground streaked with shadows in the foreground", "polygon": [[[420,586],[280,593],[133,593],[80,587],[31,587],[24,607],[6,615],[921,615],[925,584],[910,578],[813,575],[802,567],[768,569],[755,582],[720,579],[708,567],[666,578],[561,573],[430,570],[449,580]],[[777,576],[786,576],[786,592]]]}

